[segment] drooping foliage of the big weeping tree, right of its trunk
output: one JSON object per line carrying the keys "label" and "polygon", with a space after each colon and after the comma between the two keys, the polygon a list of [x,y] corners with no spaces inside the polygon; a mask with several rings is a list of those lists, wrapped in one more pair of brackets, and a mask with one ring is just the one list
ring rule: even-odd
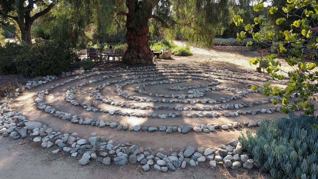
{"label": "drooping foliage of the big weeping tree, right of its trunk", "polygon": [[[232,22],[234,1],[177,0],[172,1],[171,27],[165,31],[174,38],[182,34],[184,39],[207,47],[213,45],[216,34],[221,34],[224,27]],[[169,9],[166,9],[169,10]],[[169,24],[170,25],[170,24]]]}

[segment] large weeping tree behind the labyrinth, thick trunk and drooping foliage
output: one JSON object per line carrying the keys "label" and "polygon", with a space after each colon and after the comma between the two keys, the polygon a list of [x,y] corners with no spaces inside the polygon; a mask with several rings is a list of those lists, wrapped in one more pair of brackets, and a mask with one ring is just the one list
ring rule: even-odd
{"label": "large weeping tree behind the labyrinth, thick trunk and drooping foliage", "polygon": [[126,17],[122,20],[126,20],[128,48],[123,61],[129,64],[152,63],[149,19],[160,22],[172,36],[178,28],[187,39],[211,45],[218,29],[231,20],[232,11],[232,0],[81,0],[73,5],[91,9],[102,31],[114,31],[116,20]]}

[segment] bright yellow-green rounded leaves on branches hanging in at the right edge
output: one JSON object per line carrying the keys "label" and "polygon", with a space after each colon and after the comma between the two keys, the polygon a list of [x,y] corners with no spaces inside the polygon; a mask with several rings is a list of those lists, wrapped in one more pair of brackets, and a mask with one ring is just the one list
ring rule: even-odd
{"label": "bright yellow-green rounded leaves on branches hanging in at the right edge", "polygon": [[[278,13],[280,9],[282,11]],[[254,19],[255,26],[250,25],[245,28],[245,31],[252,34],[254,41],[266,44],[267,49],[272,46],[278,53],[285,54],[284,61],[295,70],[283,71],[281,62],[276,59],[277,55],[267,55],[266,61],[269,63],[269,67],[266,68],[266,71],[268,74],[278,80],[283,80],[284,75],[288,76],[288,86],[281,90],[269,85],[262,92],[265,96],[282,97],[283,105],[290,105],[294,110],[302,109],[305,114],[313,115],[315,106],[317,106],[314,94],[318,93],[317,61],[307,61],[307,58],[309,56],[317,58],[318,56],[318,38],[311,31],[312,27],[318,24],[318,4],[315,0],[287,0],[285,7],[271,7],[268,11],[269,14],[279,14],[275,20],[270,21],[275,24],[267,23],[265,19]],[[290,22],[290,19],[294,19],[294,21]],[[239,22],[239,25],[248,26],[239,16],[234,17],[233,20]],[[284,27],[283,31],[275,31],[286,22],[289,22],[288,28]],[[262,31],[256,32],[259,30],[258,27]],[[240,39],[244,39],[245,36],[244,32],[239,34]],[[250,61],[250,64],[258,63],[257,58]],[[297,98],[290,102],[292,95],[297,95]],[[281,111],[288,113],[290,110],[285,107]]]}

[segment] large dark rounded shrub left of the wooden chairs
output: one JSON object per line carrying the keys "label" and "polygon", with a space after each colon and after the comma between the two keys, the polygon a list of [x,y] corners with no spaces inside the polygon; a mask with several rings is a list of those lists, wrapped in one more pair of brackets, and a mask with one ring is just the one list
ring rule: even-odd
{"label": "large dark rounded shrub left of the wooden chairs", "polygon": [[18,73],[25,76],[60,75],[76,58],[76,53],[69,48],[64,49],[51,40],[36,39],[21,49],[14,63]]}

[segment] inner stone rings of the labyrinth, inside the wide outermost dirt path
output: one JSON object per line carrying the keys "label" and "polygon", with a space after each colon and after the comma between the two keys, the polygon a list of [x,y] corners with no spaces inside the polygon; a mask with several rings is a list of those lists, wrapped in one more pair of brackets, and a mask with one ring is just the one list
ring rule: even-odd
{"label": "inner stone rings of the labyrinth, inside the wide outermost dirt path", "polygon": [[[38,91],[34,101],[38,104],[37,109],[75,124],[109,126],[117,128],[119,131],[149,131],[148,128],[152,127],[151,132],[159,130],[167,133],[187,133],[192,129],[195,132],[210,132],[220,126],[223,129],[239,127],[239,122],[235,121],[235,117],[241,115],[257,116],[280,111],[279,106],[268,107],[273,98],[277,97],[262,98],[259,93],[260,88],[256,91],[250,89],[251,86],[267,82],[268,77],[257,74],[248,74],[248,76],[250,77],[229,70],[197,69],[185,66],[168,66],[162,69],[119,68],[112,71],[96,71],[55,84],[50,88]],[[93,79],[87,80],[90,77]],[[68,83],[73,85],[68,85]],[[81,112],[85,115],[81,116],[81,114],[63,110],[54,105],[56,100],[60,102],[60,99],[52,99],[54,92],[65,85],[70,88],[64,89],[64,100],[76,107],[72,107],[72,109],[85,110],[85,112]],[[50,96],[51,94],[53,95]],[[253,97],[250,98],[250,95]],[[258,96],[260,100],[254,96]],[[122,120],[122,124],[118,120],[98,120],[93,118],[96,113],[108,118],[109,115],[113,116],[111,118],[141,118],[135,119],[135,121],[141,122],[139,124],[134,122],[136,125],[125,125],[127,124],[125,120]],[[167,122],[171,120],[170,118],[187,118],[187,120],[195,122],[202,121],[199,118],[213,120],[220,116],[232,121],[233,126],[226,126],[226,123],[199,124],[187,126],[183,130],[184,123],[143,125],[145,118],[158,122]],[[244,124],[247,125],[249,122],[245,121]],[[252,122],[249,126],[256,125]]]}

